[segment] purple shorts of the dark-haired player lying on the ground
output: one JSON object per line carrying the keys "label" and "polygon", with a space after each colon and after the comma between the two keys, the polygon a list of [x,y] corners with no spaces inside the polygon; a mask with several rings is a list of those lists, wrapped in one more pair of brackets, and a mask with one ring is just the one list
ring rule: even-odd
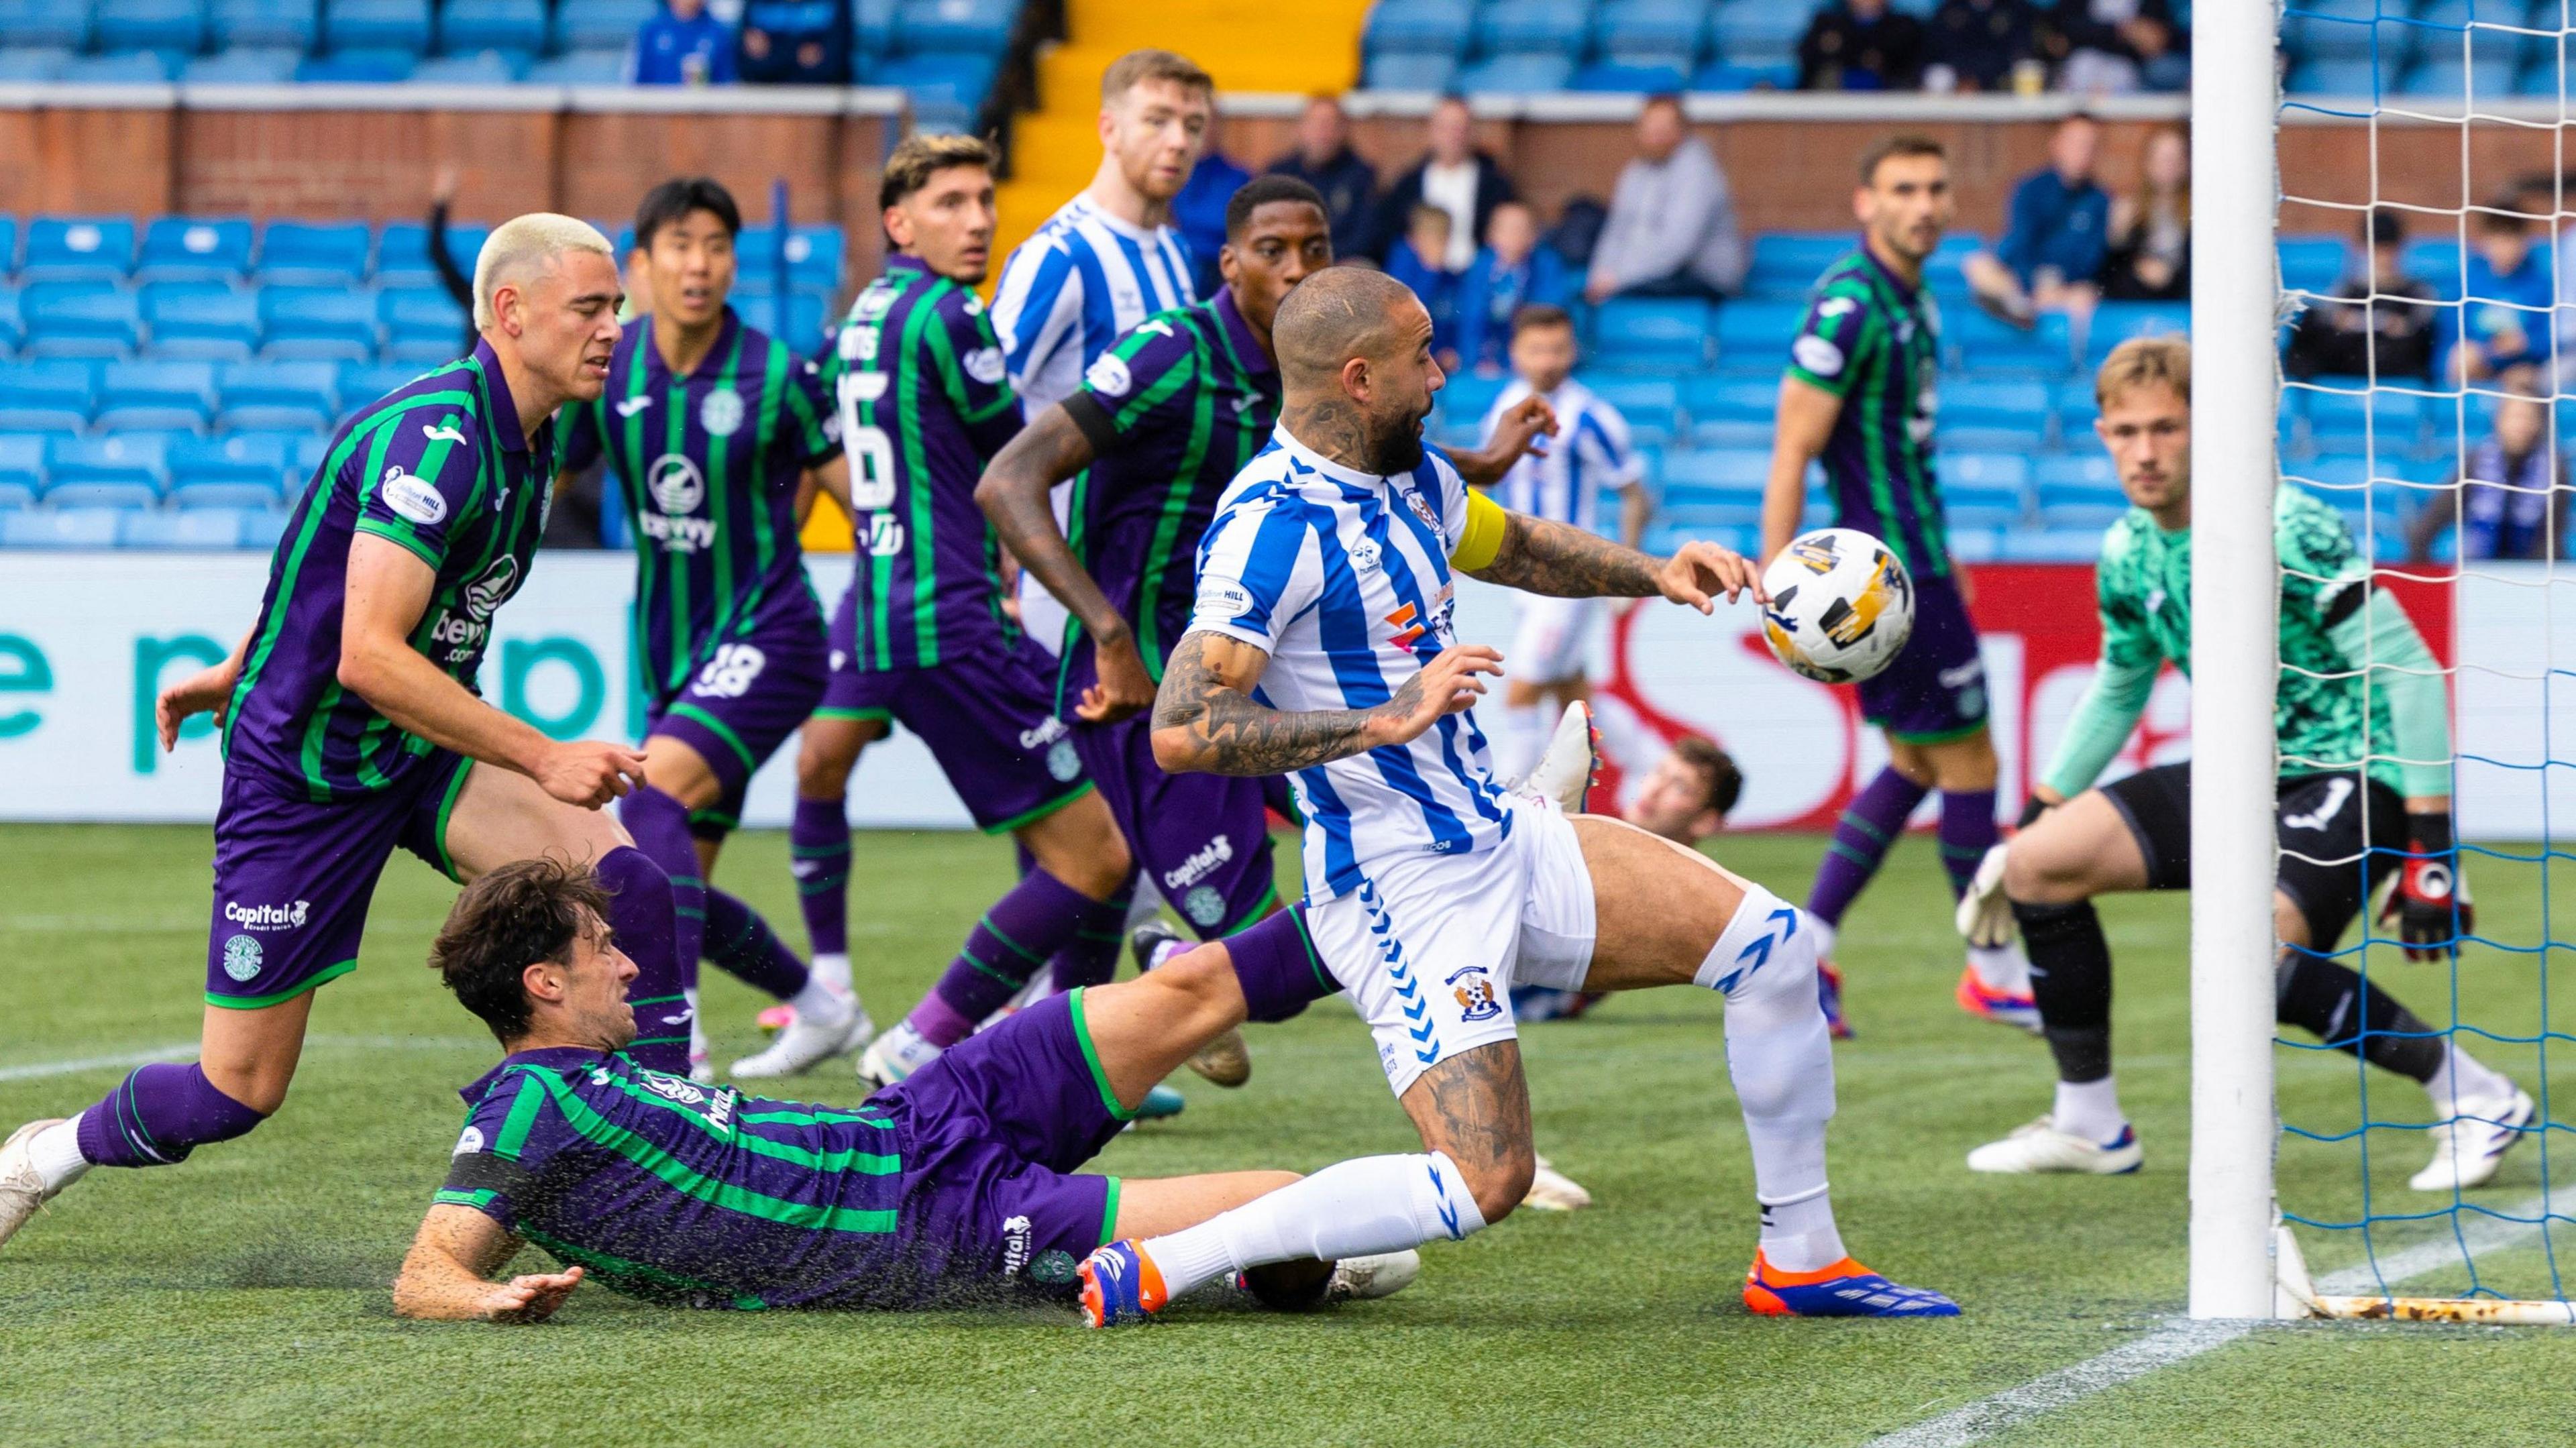
{"label": "purple shorts of the dark-haired player lying on the ground", "polygon": [[1038,1286],[1072,1283],[1118,1229],[1118,1177],[1074,1175],[1133,1118],[1110,1095],[1082,997],[1041,1000],[881,1092],[904,1100],[914,1229]]}

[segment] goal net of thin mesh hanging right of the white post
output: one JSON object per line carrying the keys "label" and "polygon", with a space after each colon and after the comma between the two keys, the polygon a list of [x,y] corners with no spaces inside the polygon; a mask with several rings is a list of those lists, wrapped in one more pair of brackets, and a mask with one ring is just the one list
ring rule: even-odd
{"label": "goal net of thin mesh hanging right of the white post", "polygon": [[[2208,26],[2236,8],[2197,10]],[[2576,443],[2576,294],[2558,281],[2561,260],[2576,278],[2576,255],[2561,255],[2576,252],[2576,229],[2561,232],[2576,227],[2571,33],[2576,0],[2290,0],[2285,85],[2264,93],[2262,129],[2277,137],[2272,345],[2282,358],[2269,441],[2282,487],[2344,515],[2375,587],[2406,605],[2437,657],[2452,703],[2450,757],[2403,757],[2385,716],[2365,752],[2372,773],[2406,770],[2409,794],[2447,776],[2473,899],[2473,915],[2455,922],[2455,956],[2409,961],[2398,928],[2378,920],[2378,891],[2331,956],[2532,1100],[2509,1136],[2481,1136],[2506,1144],[2494,1180],[2419,1190],[2411,1177],[2445,1139],[2468,1139],[2506,1110],[2458,1090],[2429,1100],[2411,1080],[2316,1038],[2275,1036],[2272,1190],[2313,1265],[2316,1296],[2347,1299],[2347,1311],[2468,1299],[2488,1306],[2450,1314],[2494,1317],[2494,1304],[2530,1299],[2558,1317],[2519,1319],[2563,1322],[2576,1291],[2566,1257],[2576,1252],[2576,1183],[2550,1185],[2576,1149],[2576,976],[2558,976],[2576,917],[2555,912],[2555,886],[2576,881],[2576,853],[2555,830],[2576,824],[2576,593],[2566,587],[2576,569],[2558,562],[2568,551],[2561,459]],[[2259,209],[2200,214],[2202,227],[2262,224]],[[2195,502],[2241,472],[2197,477]],[[2195,544],[2205,536],[2195,518]],[[2195,616],[2221,621],[2205,605]],[[2272,667],[2277,680],[2303,672],[2277,657]],[[2372,644],[2360,672],[2383,691],[2401,670]],[[2331,863],[2385,889],[2406,850],[2383,819],[2357,855]],[[2200,938],[2195,920],[2195,982],[2215,966],[2200,961]],[[2210,1268],[2202,1170],[2215,1165],[2195,1144],[2195,1311]],[[2241,1242],[2244,1221],[2228,1232]]]}

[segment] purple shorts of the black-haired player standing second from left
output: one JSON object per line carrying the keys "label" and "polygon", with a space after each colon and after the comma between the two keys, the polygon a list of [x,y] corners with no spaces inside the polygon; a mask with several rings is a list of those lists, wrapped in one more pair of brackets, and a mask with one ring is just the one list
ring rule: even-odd
{"label": "purple shorts of the black-haired player standing second from left", "polygon": [[647,737],[680,739],[716,770],[716,804],[688,817],[701,837],[721,840],[742,822],[752,776],[822,703],[827,675],[814,618],[781,621],[706,649],[680,693],[654,711]]}

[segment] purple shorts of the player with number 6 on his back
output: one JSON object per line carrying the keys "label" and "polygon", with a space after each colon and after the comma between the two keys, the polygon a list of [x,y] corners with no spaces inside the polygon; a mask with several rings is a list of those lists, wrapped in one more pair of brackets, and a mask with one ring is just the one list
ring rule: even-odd
{"label": "purple shorts of the player with number 6 on his back", "polygon": [[832,616],[832,683],[814,719],[891,719],[920,734],[979,830],[1018,830],[1092,788],[1020,652],[994,639],[992,652],[951,654],[925,670],[860,672],[842,621]]}

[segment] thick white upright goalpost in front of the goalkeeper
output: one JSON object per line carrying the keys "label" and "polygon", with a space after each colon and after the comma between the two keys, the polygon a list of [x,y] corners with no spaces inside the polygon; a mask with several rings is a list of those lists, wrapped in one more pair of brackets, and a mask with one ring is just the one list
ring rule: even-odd
{"label": "thick white upright goalpost in front of the goalkeeper", "polygon": [[2272,1314],[2277,0],[2192,26],[2192,1317]]}

